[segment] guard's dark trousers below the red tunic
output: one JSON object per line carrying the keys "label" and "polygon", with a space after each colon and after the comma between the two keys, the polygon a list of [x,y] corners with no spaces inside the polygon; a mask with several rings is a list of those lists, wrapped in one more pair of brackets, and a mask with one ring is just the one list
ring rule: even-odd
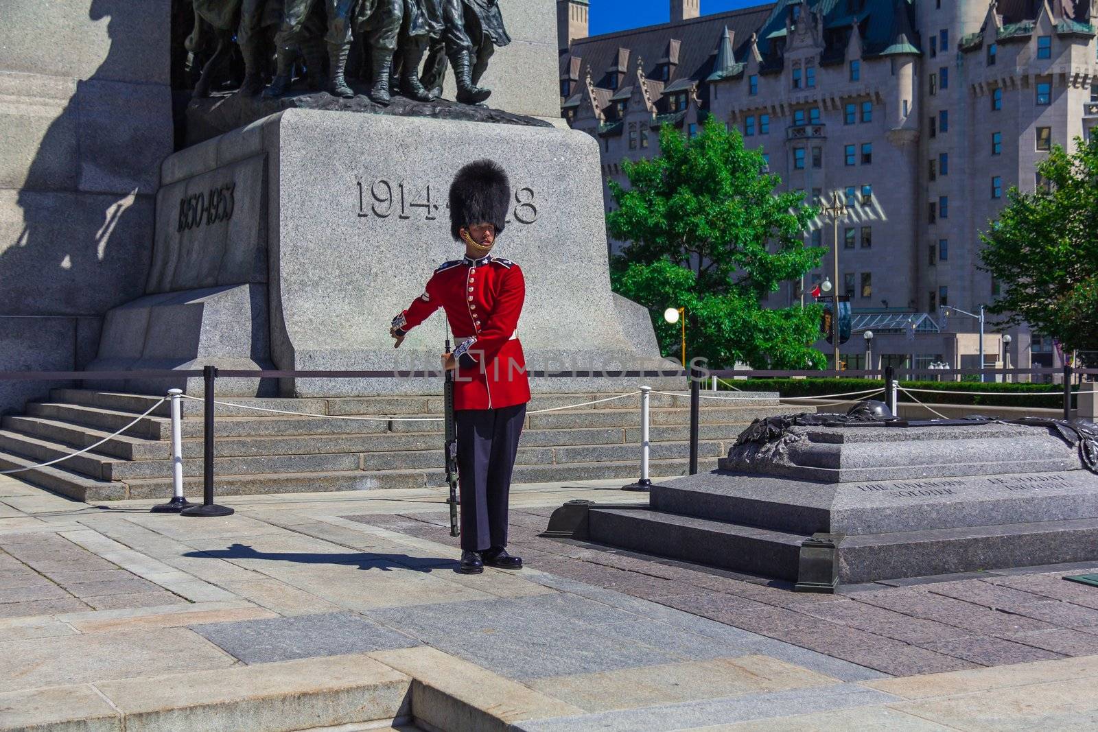
{"label": "guard's dark trousers below the red tunic", "polygon": [[507,545],[507,499],[526,405],[457,409],[461,549]]}

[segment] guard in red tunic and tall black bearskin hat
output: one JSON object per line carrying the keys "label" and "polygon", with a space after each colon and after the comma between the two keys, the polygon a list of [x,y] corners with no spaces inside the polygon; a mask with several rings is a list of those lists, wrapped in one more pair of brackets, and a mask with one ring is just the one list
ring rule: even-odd
{"label": "guard in red tunic and tall black bearskin hat", "polygon": [[450,185],[450,233],[466,256],[442,263],[422,295],[393,318],[400,347],[408,330],[437,308],[446,311],[455,342],[442,367],[456,370],[455,416],[461,491],[461,567],[518,570],[507,554],[507,499],[530,387],[518,342],[526,296],[518,264],[491,254],[503,233],[511,183],[491,160],[471,162]]}

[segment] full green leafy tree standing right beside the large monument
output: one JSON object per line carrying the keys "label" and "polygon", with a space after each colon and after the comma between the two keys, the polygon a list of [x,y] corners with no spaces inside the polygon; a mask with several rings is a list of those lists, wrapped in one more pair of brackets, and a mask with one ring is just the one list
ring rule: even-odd
{"label": "full green leafy tree standing right beside the large monument", "polygon": [[685,307],[687,358],[714,368],[822,368],[811,348],[819,307],[761,306],[824,254],[803,240],[817,214],[804,192],[778,192],[781,179],[761,172],[762,154],[714,117],[693,138],[664,125],[660,153],[623,165],[629,188],[609,182],[617,209],[607,228],[629,243],[612,262],[614,290],[652,311],[665,356],[679,354],[681,331],[662,313]]}

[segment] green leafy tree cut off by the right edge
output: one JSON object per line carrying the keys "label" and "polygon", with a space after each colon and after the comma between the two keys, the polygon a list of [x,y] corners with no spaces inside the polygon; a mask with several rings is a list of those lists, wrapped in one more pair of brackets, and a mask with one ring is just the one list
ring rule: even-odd
{"label": "green leafy tree cut off by the right edge", "polygon": [[988,307],[1002,323],[1029,326],[1065,350],[1098,349],[1098,135],[1058,145],[1037,170],[1032,193],[1011,188],[981,235],[981,257],[999,284]]}

